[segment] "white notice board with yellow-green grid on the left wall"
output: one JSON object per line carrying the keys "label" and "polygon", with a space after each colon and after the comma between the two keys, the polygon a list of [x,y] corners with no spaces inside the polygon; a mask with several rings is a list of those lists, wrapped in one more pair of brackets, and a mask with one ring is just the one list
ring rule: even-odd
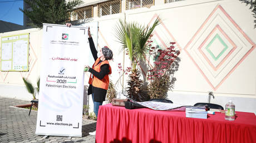
{"label": "white notice board with yellow-green grid on the left wall", "polygon": [[29,33],[1,37],[1,71],[28,71]]}

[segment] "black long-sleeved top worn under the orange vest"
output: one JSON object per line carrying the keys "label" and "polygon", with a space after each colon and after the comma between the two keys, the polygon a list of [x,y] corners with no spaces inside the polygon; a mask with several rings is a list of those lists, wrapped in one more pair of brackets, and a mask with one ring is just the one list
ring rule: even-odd
{"label": "black long-sleeved top worn under the orange vest", "polygon": [[[94,58],[94,60],[96,60],[98,57],[97,57],[97,50],[95,48],[95,45],[93,43],[93,40],[92,38],[88,38],[89,40],[89,44],[90,44],[90,49],[91,49],[91,53],[92,53],[92,56]],[[101,63],[102,61],[100,60],[99,63]],[[106,74],[109,74],[109,64],[103,64],[101,65],[100,67],[100,72],[96,72],[95,70],[93,70],[92,68],[90,68],[88,70],[88,72],[92,73],[93,76],[96,76],[97,78],[99,79],[103,79],[104,76]],[[92,85],[89,86],[88,88],[88,95],[92,94],[93,93],[93,98],[94,98],[94,101],[97,101],[97,102],[102,102],[102,101],[105,101],[106,100],[106,94],[107,94],[107,90],[106,89],[102,89],[102,88],[96,88]]]}

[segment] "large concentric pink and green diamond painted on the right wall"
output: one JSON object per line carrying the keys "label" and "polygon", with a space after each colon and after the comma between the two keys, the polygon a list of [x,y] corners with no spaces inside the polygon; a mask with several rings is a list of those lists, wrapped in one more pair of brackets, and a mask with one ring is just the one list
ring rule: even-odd
{"label": "large concentric pink and green diamond painted on the right wall", "polygon": [[254,48],[253,41],[218,4],[184,50],[216,90]]}

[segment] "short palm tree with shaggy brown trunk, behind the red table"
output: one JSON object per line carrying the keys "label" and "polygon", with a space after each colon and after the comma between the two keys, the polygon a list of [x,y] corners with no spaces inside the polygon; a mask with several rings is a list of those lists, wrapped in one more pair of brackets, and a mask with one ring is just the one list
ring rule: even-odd
{"label": "short palm tree with shaggy brown trunk, behind the red table", "polygon": [[145,55],[149,52],[146,44],[155,27],[160,24],[157,17],[151,27],[136,22],[127,23],[119,20],[116,27],[116,38],[121,43],[122,50],[125,50],[131,60],[132,73],[129,75],[127,93],[130,98],[136,101],[146,101],[149,96],[142,89],[143,81],[139,79],[140,72],[136,68],[137,63],[145,61]]}

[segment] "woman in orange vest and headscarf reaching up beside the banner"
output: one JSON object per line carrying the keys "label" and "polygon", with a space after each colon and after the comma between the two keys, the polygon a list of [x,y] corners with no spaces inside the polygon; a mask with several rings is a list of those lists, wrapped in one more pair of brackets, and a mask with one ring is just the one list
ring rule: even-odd
{"label": "woman in orange vest and headscarf reaching up beside the banner", "polygon": [[99,106],[105,101],[107,89],[109,88],[109,74],[111,74],[111,67],[108,60],[112,59],[113,53],[112,50],[105,46],[100,49],[100,57],[97,57],[97,50],[91,37],[90,27],[88,28],[88,36],[91,53],[95,60],[92,68],[88,65],[85,66],[85,68],[88,68],[88,72],[91,73],[88,95],[92,94],[94,104],[93,111],[95,115],[98,116]]}

